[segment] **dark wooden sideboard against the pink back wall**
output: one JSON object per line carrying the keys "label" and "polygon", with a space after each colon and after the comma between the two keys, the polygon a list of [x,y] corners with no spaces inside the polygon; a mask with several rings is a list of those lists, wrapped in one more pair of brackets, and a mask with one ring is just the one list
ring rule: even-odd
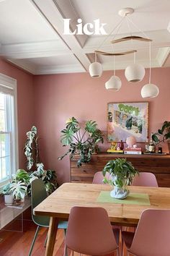
{"label": "dark wooden sideboard against the pink back wall", "polygon": [[71,182],[91,183],[97,171],[102,171],[105,164],[115,158],[126,158],[138,171],[148,171],[156,175],[160,187],[170,187],[170,155],[121,155],[99,153],[92,155],[91,161],[76,166],[79,155],[71,160]]}

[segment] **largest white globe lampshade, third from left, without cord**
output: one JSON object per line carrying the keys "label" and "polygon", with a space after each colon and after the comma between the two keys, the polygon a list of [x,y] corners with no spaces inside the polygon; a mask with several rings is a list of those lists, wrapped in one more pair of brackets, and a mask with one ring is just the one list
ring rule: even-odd
{"label": "largest white globe lampshade, third from left, without cord", "polygon": [[132,64],[125,69],[125,77],[128,82],[139,82],[143,80],[146,71],[140,64]]}

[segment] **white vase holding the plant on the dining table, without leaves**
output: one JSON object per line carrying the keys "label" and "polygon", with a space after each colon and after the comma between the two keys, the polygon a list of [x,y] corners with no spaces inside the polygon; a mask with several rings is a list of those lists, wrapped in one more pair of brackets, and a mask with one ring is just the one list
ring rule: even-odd
{"label": "white vase holding the plant on the dining table, without leaves", "polygon": [[111,197],[115,197],[117,199],[125,199],[129,195],[128,189],[128,179],[121,179],[122,187],[117,186],[117,176],[112,178],[113,184],[115,184],[114,189],[110,192]]}

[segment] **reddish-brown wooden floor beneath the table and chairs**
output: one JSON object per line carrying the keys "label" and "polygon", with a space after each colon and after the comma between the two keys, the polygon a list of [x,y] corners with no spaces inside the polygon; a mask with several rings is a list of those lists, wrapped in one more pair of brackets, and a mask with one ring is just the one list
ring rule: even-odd
{"label": "reddish-brown wooden floor beneath the table and chairs", "polygon": [[[27,256],[30,250],[32,239],[35,235],[36,227],[37,226],[32,221],[24,221],[23,232],[0,231],[0,256]],[[35,242],[34,249],[32,251],[32,256],[45,255],[44,242],[46,234],[47,229],[40,229],[39,235],[37,236],[37,240]],[[63,256],[63,249],[64,232],[63,230],[59,229],[56,236],[53,255]],[[71,255],[71,252],[68,252],[68,254]],[[74,256],[78,255],[79,253],[74,252]],[[112,256],[116,256],[116,254]],[[126,256],[125,252],[123,256]]]}

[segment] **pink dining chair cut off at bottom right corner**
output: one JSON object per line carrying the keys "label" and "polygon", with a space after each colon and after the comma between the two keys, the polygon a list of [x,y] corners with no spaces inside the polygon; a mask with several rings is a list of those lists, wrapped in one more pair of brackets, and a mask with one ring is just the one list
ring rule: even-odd
{"label": "pink dining chair cut off at bottom right corner", "polygon": [[122,231],[122,246],[135,256],[170,255],[170,210],[147,209],[140,216],[135,233]]}

